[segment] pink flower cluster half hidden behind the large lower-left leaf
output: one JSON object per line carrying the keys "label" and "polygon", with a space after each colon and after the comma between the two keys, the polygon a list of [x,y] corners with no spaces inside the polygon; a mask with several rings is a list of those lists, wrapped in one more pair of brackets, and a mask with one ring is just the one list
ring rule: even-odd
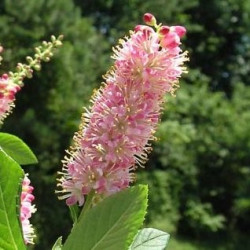
{"label": "pink flower cluster half hidden behind the large lower-left leaf", "polygon": [[34,244],[34,228],[30,224],[30,217],[36,212],[36,208],[32,205],[34,195],[32,194],[33,187],[30,185],[30,180],[26,174],[22,183],[21,193],[21,209],[20,209],[20,220],[22,224],[23,238],[25,244]]}

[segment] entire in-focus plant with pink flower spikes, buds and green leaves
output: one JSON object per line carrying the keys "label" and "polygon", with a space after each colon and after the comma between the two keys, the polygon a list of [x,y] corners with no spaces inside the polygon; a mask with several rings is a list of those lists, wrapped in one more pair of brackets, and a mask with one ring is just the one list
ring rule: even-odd
{"label": "entire in-focus plant with pink flower spikes, buds and green leaves", "polygon": [[[164,96],[174,95],[179,78],[186,72],[187,52],[180,48],[186,29],[158,24],[150,13],[143,19],[145,25],[137,25],[113,48],[114,65],[104,76],[102,86],[94,92],[92,105],[85,109],[74,144],[63,160],[56,192],[59,199],[66,199],[73,228],[66,241],[62,243],[59,238],[52,249],[133,250],[141,246],[141,249],[157,247],[160,250],[167,245],[167,233],[141,229],[147,209],[147,186],[130,186],[135,182],[136,168],[145,164],[152,150],[150,142],[155,140]],[[14,107],[15,94],[21,89],[23,79],[31,77],[33,69],[39,70],[41,61],[49,61],[61,40],[62,37],[53,37],[51,42],[44,42],[36,48],[34,58],[27,58],[27,65],[18,64],[15,73],[2,75],[1,122]],[[8,148],[8,140],[21,144],[28,160],[20,161],[15,149]],[[34,163],[34,159],[20,139],[0,134],[0,162],[3,160],[4,166],[11,164],[20,171],[19,164]],[[7,225],[9,221],[4,221],[0,213],[0,234],[4,235],[0,248],[25,249],[25,244],[33,244],[35,237],[29,222],[36,210],[32,205],[33,187],[28,175],[21,170],[15,177],[16,189],[12,190],[3,177],[9,170],[2,169],[0,192],[16,192],[20,198],[16,201],[19,215],[12,221],[11,228],[6,226],[8,230],[1,229],[1,224]],[[15,207],[16,203],[9,205]],[[20,222],[21,238],[16,228]],[[17,248],[11,248],[13,246]]]}

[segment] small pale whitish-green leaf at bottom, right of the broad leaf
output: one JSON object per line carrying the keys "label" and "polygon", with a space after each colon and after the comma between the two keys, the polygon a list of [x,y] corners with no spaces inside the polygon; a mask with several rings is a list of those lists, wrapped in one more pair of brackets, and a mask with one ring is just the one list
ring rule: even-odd
{"label": "small pale whitish-green leaf at bottom, right of the broad leaf", "polygon": [[164,250],[169,234],[154,228],[144,228],[136,235],[129,250]]}

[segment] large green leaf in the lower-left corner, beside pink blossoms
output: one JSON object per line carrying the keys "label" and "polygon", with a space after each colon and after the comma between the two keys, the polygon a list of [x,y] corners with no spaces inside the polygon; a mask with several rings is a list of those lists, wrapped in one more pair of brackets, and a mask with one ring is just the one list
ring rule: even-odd
{"label": "large green leaf in the lower-left corner, beside pink blossoms", "polygon": [[23,177],[21,167],[0,150],[0,249],[26,249],[17,209]]}

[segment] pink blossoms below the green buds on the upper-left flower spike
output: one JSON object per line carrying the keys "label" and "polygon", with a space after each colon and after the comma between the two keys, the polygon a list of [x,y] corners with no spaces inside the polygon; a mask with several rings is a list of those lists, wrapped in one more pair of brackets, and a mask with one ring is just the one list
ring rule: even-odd
{"label": "pink blossoms below the green buds on the upper-left flower spike", "polygon": [[13,83],[7,74],[0,77],[0,123],[10,113],[14,106],[15,94],[20,86]]}

